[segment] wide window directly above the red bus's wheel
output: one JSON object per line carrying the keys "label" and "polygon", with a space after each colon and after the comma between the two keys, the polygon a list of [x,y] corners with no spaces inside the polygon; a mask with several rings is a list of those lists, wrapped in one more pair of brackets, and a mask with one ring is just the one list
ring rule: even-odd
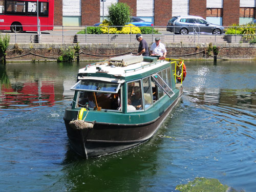
{"label": "wide window directly above the red bus's wheel", "polygon": [[8,15],[25,15],[25,2],[6,1],[6,14]]}

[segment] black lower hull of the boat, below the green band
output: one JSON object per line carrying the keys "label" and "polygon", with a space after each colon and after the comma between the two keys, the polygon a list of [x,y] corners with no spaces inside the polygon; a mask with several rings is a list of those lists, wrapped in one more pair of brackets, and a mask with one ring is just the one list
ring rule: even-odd
{"label": "black lower hull of the boat, below the green band", "polygon": [[74,130],[65,120],[71,148],[84,158],[110,154],[139,145],[150,139],[158,130],[164,119],[177,104],[177,99],[153,122],[126,125],[95,123],[92,129]]}

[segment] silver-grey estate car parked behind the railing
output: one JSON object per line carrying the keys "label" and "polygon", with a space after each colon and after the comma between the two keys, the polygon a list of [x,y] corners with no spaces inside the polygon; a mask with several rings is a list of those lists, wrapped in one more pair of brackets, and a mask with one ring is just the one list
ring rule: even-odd
{"label": "silver-grey estate car parked behind the railing", "polygon": [[168,21],[166,31],[186,35],[188,33],[223,34],[224,27],[211,24],[199,16],[174,16]]}

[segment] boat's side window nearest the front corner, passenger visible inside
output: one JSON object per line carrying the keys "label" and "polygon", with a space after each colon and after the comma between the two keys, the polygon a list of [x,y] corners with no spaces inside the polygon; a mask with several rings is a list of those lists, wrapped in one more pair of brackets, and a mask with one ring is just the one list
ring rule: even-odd
{"label": "boat's side window nearest the front corner, passenger visible inside", "polygon": [[127,111],[143,110],[141,81],[127,83]]}

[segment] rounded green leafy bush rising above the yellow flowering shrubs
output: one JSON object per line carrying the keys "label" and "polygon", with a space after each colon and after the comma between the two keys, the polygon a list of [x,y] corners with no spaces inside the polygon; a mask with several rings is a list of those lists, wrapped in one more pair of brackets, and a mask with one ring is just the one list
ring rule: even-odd
{"label": "rounded green leafy bush rising above the yellow flowering shrubs", "polygon": [[[130,22],[131,8],[125,3],[116,3],[109,6],[109,19],[113,26],[124,26]],[[118,27],[121,30],[122,27]]]}

